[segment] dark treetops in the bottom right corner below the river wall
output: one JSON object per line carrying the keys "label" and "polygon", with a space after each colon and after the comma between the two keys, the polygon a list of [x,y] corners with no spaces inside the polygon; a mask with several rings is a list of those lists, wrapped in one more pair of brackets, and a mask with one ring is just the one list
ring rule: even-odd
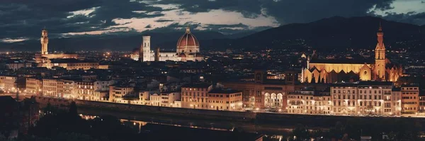
{"label": "dark treetops in the bottom right corner below the river wall", "polygon": [[[371,136],[373,140],[424,140],[419,132],[421,123],[407,118],[363,119],[353,118],[346,123],[336,122],[329,130],[310,130],[305,125],[297,125],[289,140],[325,139],[360,140],[361,136]],[[294,138],[295,137],[295,138]]]}

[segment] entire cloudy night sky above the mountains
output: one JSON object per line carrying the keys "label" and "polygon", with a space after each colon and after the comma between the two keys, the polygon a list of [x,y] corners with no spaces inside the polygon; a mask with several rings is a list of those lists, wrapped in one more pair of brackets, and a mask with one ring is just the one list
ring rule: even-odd
{"label": "entire cloudy night sky above the mountains", "polygon": [[421,0],[2,0],[0,41],[194,30],[259,31],[331,16],[378,16],[425,24]]}

